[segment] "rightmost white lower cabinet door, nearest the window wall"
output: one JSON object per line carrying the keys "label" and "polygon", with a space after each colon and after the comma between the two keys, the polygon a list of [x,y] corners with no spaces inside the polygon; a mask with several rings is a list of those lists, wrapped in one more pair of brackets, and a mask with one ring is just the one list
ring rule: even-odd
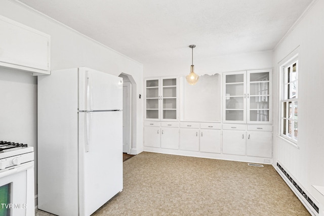
{"label": "rightmost white lower cabinet door, nearest the window wall", "polygon": [[248,132],[247,155],[272,157],[272,133]]}

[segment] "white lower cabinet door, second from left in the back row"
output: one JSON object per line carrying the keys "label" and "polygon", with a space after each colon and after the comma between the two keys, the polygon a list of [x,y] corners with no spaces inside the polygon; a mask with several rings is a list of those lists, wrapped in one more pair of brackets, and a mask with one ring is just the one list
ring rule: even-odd
{"label": "white lower cabinet door, second from left in the back row", "polygon": [[161,148],[179,149],[179,128],[161,127]]}

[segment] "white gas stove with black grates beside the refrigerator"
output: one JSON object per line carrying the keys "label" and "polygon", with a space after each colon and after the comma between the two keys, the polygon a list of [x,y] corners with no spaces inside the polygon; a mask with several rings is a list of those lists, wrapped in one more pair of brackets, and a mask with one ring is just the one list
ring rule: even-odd
{"label": "white gas stove with black grates beside the refrigerator", "polygon": [[0,215],[35,215],[33,150],[26,144],[0,141]]}

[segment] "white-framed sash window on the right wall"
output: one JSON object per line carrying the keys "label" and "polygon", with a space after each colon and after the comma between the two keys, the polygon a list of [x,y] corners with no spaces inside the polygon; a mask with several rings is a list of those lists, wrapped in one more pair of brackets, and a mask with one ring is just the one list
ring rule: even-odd
{"label": "white-framed sash window on the right wall", "polygon": [[[299,73],[299,58],[298,53],[293,56],[289,61],[286,61],[284,64],[281,64],[279,67],[280,71],[280,101],[279,101],[279,135],[281,138],[295,144],[298,146],[298,136],[295,138],[295,122],[297,122],[297,132],[298,132],[298,112],[295,114],[295,104],[298,108],[298,73]],[[296,63],[296,79],[293,81],[290,80],[288,76],[290,71],[287,71],[288,68],[293,68],[293,65]],[[290,86],[296,83],[296,93],[295,97],[290,97]],[[291,104],[291,106],[290,106]],[[286,106],[285,106],[286,105]],[[291,107],[291,112],[289,108]],[[296,118],[297,116],[297,118]],[[286,124],[284,123],[286,120]],[[291,136],[289,134],[291,127]],[[284,131],[285,130],[285,131]]]}

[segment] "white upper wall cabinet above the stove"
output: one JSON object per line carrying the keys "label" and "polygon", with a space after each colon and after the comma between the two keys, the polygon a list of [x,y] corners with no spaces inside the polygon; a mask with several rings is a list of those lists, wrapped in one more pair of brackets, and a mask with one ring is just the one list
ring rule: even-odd
{"label": "white upper wall cabinet above the stove", "polygon": [[0,16],[0,66],[50,74],[50,35]]}

